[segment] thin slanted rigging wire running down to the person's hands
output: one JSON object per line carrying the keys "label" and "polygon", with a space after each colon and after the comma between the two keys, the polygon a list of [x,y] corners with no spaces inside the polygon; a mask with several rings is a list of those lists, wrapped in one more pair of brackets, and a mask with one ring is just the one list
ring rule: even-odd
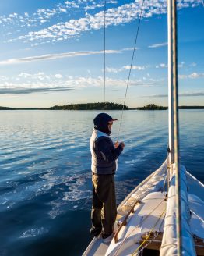
{"label": "thin slanted rigging wire running down to the person's hands", "polygon": [[128,73],[128,81],[127,81],[126,90],[125,90],[125,98],[124,98],[124,102],[123,102],[122,110],[121,110],[121,119],[120,119],[120,124],[119,124],[119,129],[118,129],[118,138],[119,138],[119,134],[120,134],[120,131],[121,131],[121,121],[122,121],[122,117],[123,117],[125,101],[126,101],[126,96],[127,96],[127,92],[128,92],[128,85],[129,85],[130,75],[131,75],[131,71],[132,71],[132,63],[133,63],[133,59],[134,59],[134,56],[135,56],[135,47],[136,47],[136,44],[137,44],[137,38],[138,38],[138,34],[139,34],[139,26],[140,26],[140,22],[141,22],[141,19],[142,19],[142,10],[143,10],[144,2],[145,2],[145,0],[142,0],[142,7],[141,7],[140,15],[139,15],[139,23],[138,23],[138,27],[137,27],[136,36],[135,36],[135,44],[134,44],[134,48],[133,48],[133,52],[132,52],[132,61],[131,61],[131,65],[130,65],[130,69],[129,69],[129,73]]}

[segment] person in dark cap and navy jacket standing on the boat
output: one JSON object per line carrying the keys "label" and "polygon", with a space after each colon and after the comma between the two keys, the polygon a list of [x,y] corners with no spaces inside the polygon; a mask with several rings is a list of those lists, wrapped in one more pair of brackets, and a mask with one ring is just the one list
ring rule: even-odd
{"label": "person in dark cap and navy jacket standing on the boat", "polygon": [[105,242],[111,240],[117,206],[114,188],[114,173],[117,169],[117,159],[125,144],[111,140],[113,122],[106,113],[100,113],[93,119],[94,129],[90,138],[92,155],[93,205],[91,211],[92,236],[102,233]]}

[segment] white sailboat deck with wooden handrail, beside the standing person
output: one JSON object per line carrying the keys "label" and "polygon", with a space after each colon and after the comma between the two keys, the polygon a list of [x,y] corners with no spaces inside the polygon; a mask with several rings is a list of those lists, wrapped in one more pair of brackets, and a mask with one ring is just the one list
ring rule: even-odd
{"label": "white sailboat deck with wooden handrail, beside the standing person", "polygon": [[[164,192],[166,170],[164,162],[160,169],[135,187],[135,190],[121,202],[111,243],[105,244],[101,237],[94,238],[83,256],[127,256],[133,253],[139,255],[142,248],[160,249],[167,206]],[[194,235],[195,251],[197,255],[204,255],[204,186],[188,172],[187,180],[188,204],[191,210],[190,227]]]}

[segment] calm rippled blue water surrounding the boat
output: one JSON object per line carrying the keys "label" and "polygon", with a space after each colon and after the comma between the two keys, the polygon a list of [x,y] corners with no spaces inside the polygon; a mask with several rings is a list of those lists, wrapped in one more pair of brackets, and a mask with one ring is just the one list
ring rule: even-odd
{"label": "calm rippled blue water surrounding the boat", "polygon": [[[89,140],[97,113],[0,112],[1,256],[83,253],[90,242]],[[180,111],[181,163],[202,182],[203,127],[203,110]],[[119,139],[125,150],[115,176],[118,203],[167,157],[167,111],[125,112]]]}

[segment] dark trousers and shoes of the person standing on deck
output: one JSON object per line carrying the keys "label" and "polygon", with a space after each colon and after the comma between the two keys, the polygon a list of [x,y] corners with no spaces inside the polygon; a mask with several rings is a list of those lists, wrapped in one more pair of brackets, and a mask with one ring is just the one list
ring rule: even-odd
{"label": "dark trousers and shoes of the person standing on deck", "polygon": [[92,227],[90,233],[97,236],[102,232],[105,238],[110,236],[114,229],[117,215],[115,200],[114,175],[92,176],[93,205],[91,211]]}

